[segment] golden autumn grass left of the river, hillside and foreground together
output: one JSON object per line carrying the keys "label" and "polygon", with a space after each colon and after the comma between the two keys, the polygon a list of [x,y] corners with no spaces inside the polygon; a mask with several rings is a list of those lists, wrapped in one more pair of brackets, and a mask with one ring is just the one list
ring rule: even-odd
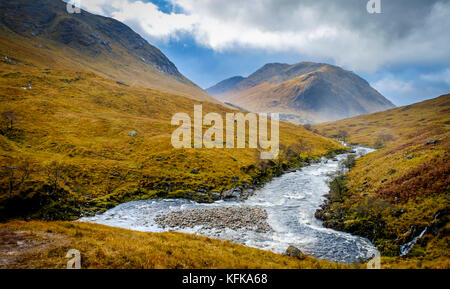
{"label": "golden autumn grass left of the river, hillside and foreground together", "polygon": [[192,114],[200,103],[205,114],[236,111],[128,85],[55,55],[0,37],[0,254],[8,257],[0,266],[63,268],[67,249],[77,247],[86,268],[342,267],[185,234],[58,221],[133,200],[211,202],[213,193],[260,186],[344,147],[281,123],[274,161],[257,149],[174,149],[174,113]]}

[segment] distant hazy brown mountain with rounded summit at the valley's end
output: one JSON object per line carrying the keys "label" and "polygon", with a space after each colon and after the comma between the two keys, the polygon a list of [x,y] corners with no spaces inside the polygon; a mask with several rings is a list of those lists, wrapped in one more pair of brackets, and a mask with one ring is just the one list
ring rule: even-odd
{"label": "distant hazy brown mountain with rounded summit at the valley's end", "polygon": [[312,62],[266,64],[247,78],[233,77],[206,91],[250,111],[297,115],[314,122],[394,107],[353,72]]}

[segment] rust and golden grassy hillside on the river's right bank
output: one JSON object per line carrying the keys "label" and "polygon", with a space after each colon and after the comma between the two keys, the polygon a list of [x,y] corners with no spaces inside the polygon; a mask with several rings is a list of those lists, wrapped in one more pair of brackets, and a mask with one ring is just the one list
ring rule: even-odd
{"label": "rust and golden grassy hillside on the river's right bank", "polygon": [[[449,268],[449,112],[450,95],[443,95],[316,126],[378,149],[336,180],[318,212],[324,225],[368,237],[390,266]],[[401,246],[416,237],[399,258]]]}

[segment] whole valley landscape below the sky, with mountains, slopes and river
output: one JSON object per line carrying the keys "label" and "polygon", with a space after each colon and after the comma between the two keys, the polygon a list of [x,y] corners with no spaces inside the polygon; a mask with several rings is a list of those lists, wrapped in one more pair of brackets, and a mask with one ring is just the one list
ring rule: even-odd
{"label": "whole valley landscape below the sky, with mountains, slopes and river", "polygon": [[112,18],[0,17],[0,268],[450,268],[449,94],[306,61],[203,90]]}

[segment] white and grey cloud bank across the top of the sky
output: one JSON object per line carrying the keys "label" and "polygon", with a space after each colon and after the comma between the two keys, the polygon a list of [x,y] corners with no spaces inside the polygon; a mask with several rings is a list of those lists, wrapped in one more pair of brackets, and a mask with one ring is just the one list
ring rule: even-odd
{"label": "white and grey cloud bank across the top of the sky", "polygon": [[448,0],[168,0],[175,12],[133,0],[89,0],[83,8],[167,41],[190,35],[215,51],[261,49],[331,59],[359,72],[404,64],[450,65]]}

